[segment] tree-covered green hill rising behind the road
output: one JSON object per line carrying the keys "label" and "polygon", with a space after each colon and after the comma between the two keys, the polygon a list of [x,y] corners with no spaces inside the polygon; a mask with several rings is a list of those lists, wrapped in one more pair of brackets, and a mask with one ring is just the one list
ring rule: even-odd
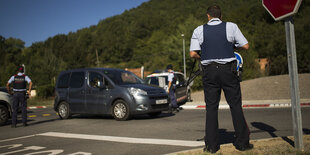
{"label": "tree-covered green hill rising behind the road", "polygon": [[[272,75],[288,73],[287,67],[282,65],[287,62],[284,24],[275,22],[257,0],[150,0],[120,15],[101,20],[97,25],[67,35],[56,35],[44,41],[43,45],[34,44],[30,50],[35,53],[50,50],[66,64],[66,68],[97,66],[97,50],[100,65],[104,67],[144,66],[152,71],[172,63],[176,70],[182,70],[181,34],[185,35],[186,61],[190,64],[192,60],[188,59],[188,50],[192,32],[207,22],[206,9],[213,4],[221,6],[223,20],[237,23],[250,42],[250,50],[243,53],[247,59],[246,72],[257,69],[255,58],[267,57],[271,62],[268,72]],[[304,62],[304,57],[310,57],[305,54],[309,50],[306,48],[308,45],[303,45],[308,44],[306,38],[310,36],[304,34],[310,31],[307,26],[310,18],[306,17],[309,12],[310,3],[303,2],[295,18],[297,51],[302,55],[299,63]],[[299,67],[310,71],[307,64]],[[189,65],[187,68],[190,69]],[[253,73],[245,75],[246,79],[258,76]]]}

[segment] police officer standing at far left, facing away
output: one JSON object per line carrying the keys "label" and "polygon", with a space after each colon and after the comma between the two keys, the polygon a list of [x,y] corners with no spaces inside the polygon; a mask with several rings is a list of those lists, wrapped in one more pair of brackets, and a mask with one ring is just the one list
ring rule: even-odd
{"label": "police officer standing at far left, facing away", "polygon": [[[19,103],[22,106],[22,122],[23,126],[27,126],[27,99],[26,99],[26,93],[30,95],[32,82],[31,79],[24,74],[24,68],[19,67],[18,73],[14,76],[12,76],[7,85],[6,88],[8,92],[11,94],[10,91],[10,84],[13,83],[13,105],[12,105],[12,128],[16,128],[17,123],[17,110]],[[28,92],[27,91],[27,83],[29,84]]]}

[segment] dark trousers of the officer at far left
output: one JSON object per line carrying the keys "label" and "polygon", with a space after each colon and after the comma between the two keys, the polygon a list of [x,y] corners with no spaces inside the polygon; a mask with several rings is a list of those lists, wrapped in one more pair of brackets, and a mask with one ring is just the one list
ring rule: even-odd
{"label": "dark trousers of the officer at far left", "polygon": [[27,123],[27,100],[26,100],[26,92],[14,92],[13,94],[13,105],[12,105],[12,124],[16,125],[17,123],[17,112],[19,103],[22,108],[22,122]]}

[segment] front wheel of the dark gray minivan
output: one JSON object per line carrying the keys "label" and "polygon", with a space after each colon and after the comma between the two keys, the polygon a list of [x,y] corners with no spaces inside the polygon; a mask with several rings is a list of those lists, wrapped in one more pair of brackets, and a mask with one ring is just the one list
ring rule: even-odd
{"label": "front wheel of the dark gray minivan", "polygon": [[128,104],[123,100],[116,100],[112,106],[112,116],[117,121],[126,121],[130,116]]}

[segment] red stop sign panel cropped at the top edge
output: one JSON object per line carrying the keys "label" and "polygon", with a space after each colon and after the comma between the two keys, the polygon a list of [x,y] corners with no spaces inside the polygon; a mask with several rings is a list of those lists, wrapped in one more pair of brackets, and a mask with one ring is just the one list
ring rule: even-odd
{"label": "red stop sign panel cropped at the top edge", "polygon": [[302,0],[262,0],[263,6],[274,20],[281,20],[297,13]]}

